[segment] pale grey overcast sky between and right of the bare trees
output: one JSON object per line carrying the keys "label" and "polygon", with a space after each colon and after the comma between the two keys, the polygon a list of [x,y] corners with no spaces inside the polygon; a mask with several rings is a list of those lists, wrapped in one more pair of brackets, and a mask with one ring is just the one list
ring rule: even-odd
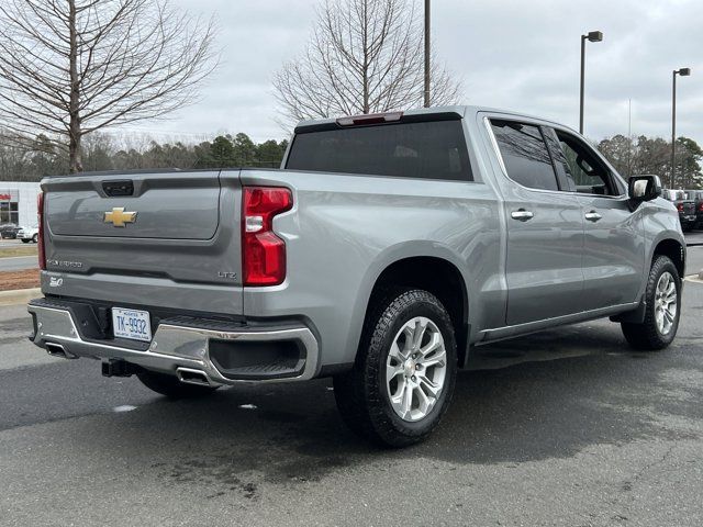
{"label": "pale grey overcast sky between and right of the bare trees", "polygon": [[[220,24],[222,65],[200,102],[168,121],[131,130],[181,138],[245,132],[282,138],[271,77],[302,53],[317,0],[171,0]],[[409,0],[413,1],[413,0]],[[415,0],[420,1],[420,0]],[[677,135],[703,145],[701,0],[434,0],[433,43],[464,82],[464,101],[550,117],[578,127],[580,35],[587,43],[585,134],[671,134],[671,71],[678,81]]]}

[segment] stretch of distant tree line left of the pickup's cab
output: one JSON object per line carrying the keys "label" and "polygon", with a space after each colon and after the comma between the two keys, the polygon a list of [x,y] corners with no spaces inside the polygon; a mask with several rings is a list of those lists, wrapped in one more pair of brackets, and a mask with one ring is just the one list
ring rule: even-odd
{"label": "stretch of distant tree line left of the pickup's cab", "polygon": [[[212,141],[159,143],[130,135],[91,134],[81,145],[83,170],[134,170],[161,168],[278,168],[288,141],[255,143],[244,134],[217,135]],[[0,134],[0,181],[40,181],[45,176],[70,171],[66,149],[38,136],[32,145],[16,145]]]}

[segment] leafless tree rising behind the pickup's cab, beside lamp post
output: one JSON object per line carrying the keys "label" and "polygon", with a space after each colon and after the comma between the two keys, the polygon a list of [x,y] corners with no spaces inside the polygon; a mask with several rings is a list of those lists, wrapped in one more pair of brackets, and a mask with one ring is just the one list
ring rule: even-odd
{"label": "leafless tree rising behind the pickup's cab, beside lamp post", "polygon": [[[274,78],[292,121],[384,112],[423,102],[422,12],[414,0],[323,0],[306,52]],[[460,83],[433,58],[432,105],[456,103]]]}

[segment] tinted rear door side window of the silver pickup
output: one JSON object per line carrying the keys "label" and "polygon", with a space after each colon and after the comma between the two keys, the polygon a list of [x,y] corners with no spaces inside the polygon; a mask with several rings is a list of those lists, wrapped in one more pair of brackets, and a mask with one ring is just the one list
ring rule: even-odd
{"label": "tinted rear door side window of the silver pickup", "polygon": [[507,176],[531,189],[559,190],[549,150],[538,126],[491,120]]}

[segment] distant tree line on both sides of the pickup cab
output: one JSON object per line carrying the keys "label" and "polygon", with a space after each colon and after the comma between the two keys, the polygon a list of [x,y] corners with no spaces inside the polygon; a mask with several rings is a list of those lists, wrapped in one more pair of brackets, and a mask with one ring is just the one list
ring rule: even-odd
{"label": "distant tree line on both sides of the pickup cab", "polygon": [[[625,178],[654,173],[670,186],[671,142],[661,137],[614,135],[596,144],[600,152]],[[217,135],[210,141],[157,142],[134,135],[97,133],[81,145],[83,169],[134,170],[163,168],[277,168],[288,148],[288,141],[255,143],[244,133]],[[677,139],[677,181],[674,188],[703,188],[703,149],[689,137]],[[27,146],[2,139],[0,134],[0,181],[40,181],[45,176],[69,172],[64,148],[38,136]]]}

